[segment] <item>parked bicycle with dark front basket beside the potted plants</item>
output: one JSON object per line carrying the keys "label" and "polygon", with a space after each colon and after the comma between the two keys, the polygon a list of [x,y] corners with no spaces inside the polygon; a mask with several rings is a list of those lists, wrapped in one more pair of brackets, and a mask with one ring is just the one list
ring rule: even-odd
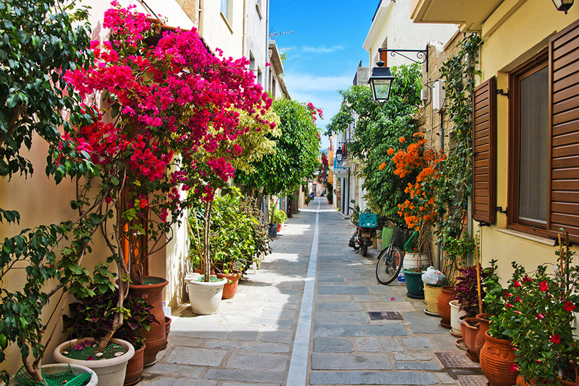
{"label": "parked bicycle with dark front basket beside the potted plants", "polygon": [[390,284],[398,277],[404,262],[404,244],[408,241],[408,229],[394,228],[388,248],[382,249],[376,262],[376,279],[380,284]]}

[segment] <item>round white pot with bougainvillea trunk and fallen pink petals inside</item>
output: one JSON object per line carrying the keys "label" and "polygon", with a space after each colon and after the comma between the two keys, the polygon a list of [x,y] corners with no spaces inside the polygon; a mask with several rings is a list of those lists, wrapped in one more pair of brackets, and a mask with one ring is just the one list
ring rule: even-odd
{"label": "round white pot with bougainvillea trunk and fallen pink petals inside", "polygon": [[[122,386],[125,380],[126,364],[129,359],[135,355],[135,348],[126,340],[112,338],[111,343],[121,345],[126,348],[127,352],[120,357],[111,359],[99,359],[96,361],[83,361],[80,359],[72,359],[62,355],[62,352],[69,350],[69,347],[76,345],[77,342],[82,342],[82,339],[73,339],[64,342],[54,349],[54,360],[61,364],[79,364],[86,366],[95,371],[98,375],[99,385],[107,386]],[[88,338],[92,340],[93,338]]]}

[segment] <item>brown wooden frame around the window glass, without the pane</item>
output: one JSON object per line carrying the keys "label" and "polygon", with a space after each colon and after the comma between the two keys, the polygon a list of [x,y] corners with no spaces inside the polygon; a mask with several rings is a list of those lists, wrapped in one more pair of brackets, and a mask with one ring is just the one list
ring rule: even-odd
{"label": "brown wooden frame around the window glass, without the pane", "polygon": [[[509,156],[508,156],[508,213],[507,228],[519,232],[547,237],[547,223],[521,220],[519,218],[519,178],[520,178],[520,84],[523,79],[549,67],[547,49],[509,72]],[[550,76],[550,75],[549,75]],[[549,84],[550,84],[549,80]],[[549,88],[547,87],[547,93]],[[547,130],[549,129],[547,124]],[[549,144],[545,144],[547,148]],[[549,173],[547,171],[547,173]],[[548,187],[547,187],[548,189]],[[549,199],[547,198],[547,221]]]}

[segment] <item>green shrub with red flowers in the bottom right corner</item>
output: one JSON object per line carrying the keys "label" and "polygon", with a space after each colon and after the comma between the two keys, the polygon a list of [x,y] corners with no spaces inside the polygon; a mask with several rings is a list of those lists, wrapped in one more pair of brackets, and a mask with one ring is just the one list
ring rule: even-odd
{"label": "green shrub with red flowers in the bottom right corner", "polygon": [[[554,275],[547,273],[550,265],[540,265],[528,273],[513,262],[514,274],[504,294],[503,310],[491,317],[491,335],[512,340],[517,350],[513,368],[527,380],[537,380],[538,385],[554,381],[559,369],[579,359],[578,343],[571,333],[579,266],[569,266],[574,253],[568,248],[561,247],[557,254],[559,264]],[[571,373],[575,381],[574,368]]]}

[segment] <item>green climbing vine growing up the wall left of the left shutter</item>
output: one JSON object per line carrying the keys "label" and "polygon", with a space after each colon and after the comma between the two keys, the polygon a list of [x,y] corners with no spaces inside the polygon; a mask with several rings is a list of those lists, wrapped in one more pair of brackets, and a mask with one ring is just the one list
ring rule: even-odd
{"label": "green climbing vine growing up the wall left of the left shutter", "polygon": [[[439,242],[448,255],[456,255],[452,246],[460,239],[467,224],[468,199],[472,193],[472,90],[477,56],[482,44],[478,34],[465,36],[458,46],[460,51],[448,58],[441,67],[441,76],[446,78],[446,98],[450,147],[446,159],[440,162],[437,205],[441,214]],[[460,243],[459,243],[460,244]],[[460,248],[459,248],[460,249]]]}

